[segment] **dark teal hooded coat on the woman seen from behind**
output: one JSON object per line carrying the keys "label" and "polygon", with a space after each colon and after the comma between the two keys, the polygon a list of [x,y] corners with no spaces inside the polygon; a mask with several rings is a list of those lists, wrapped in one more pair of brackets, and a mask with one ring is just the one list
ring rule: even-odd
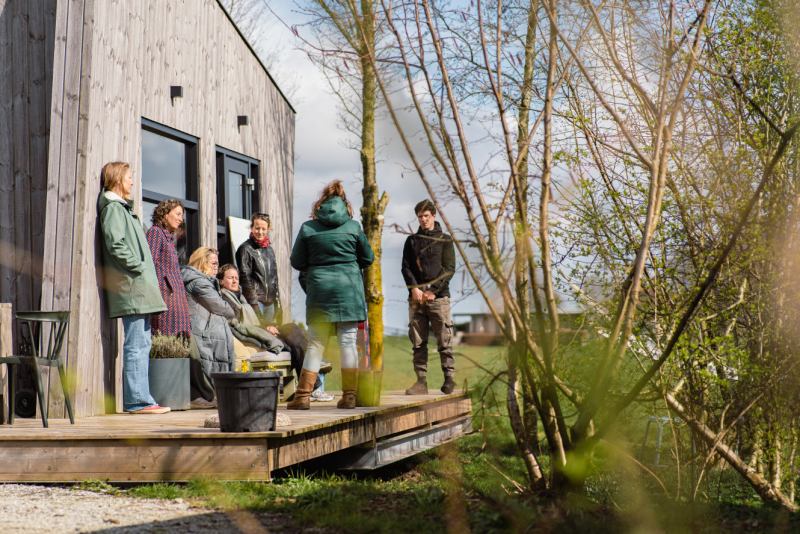
{"label": "dark teal hooded coat on the woman seen from behind", "polygon": [[303,223],[292,248],[292,267],[308,273],[306,322],[338,323],[367,318],[361,269],[375,260],[361,225],[347,205],[331,197]]}

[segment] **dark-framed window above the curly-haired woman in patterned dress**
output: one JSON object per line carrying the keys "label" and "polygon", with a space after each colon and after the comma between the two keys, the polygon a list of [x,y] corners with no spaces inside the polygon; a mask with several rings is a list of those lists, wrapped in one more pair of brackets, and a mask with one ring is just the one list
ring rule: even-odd
{"label": "dark-framed window above the curly-haired woman in patterned dress", "polygon": [[174,198],[186,208],[186,232],[177,236],[178,260],[185,265],[200,246],[197,214],[198,166],[196,137],[142,118],[142,222],[150,228],[153,211]]}

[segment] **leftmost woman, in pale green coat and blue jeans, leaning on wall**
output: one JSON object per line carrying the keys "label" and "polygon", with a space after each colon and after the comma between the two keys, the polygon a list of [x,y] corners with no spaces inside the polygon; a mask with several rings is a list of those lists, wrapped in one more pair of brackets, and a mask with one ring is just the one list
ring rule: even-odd
{"label": "leftmost woman, in pale green coat and blue jeans, leaning on wall", "polygon": [[103,190],[97,199],[102,233],[103,283],[108,317],[120,318],[123,409],[135,414],[166,413],[150,395],[150,315],[167,310],[142,223],[126,200],[133,179],[128,163],[107,163],[101,174]]}

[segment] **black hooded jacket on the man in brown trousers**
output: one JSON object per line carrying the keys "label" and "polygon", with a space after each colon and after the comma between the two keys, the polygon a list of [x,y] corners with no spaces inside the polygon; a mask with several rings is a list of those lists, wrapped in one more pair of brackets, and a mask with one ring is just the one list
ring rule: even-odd
{"label": "black hooded jacket on the man in brown trousers", "polygon": [[408,236],[403,247],[403,279],[408,294],[419,287],[431,290],[436,298],[450,296],[450,279],[456,270],[456,251],[453,239],[442,232],[439,223],[433,230],[423,230]]}

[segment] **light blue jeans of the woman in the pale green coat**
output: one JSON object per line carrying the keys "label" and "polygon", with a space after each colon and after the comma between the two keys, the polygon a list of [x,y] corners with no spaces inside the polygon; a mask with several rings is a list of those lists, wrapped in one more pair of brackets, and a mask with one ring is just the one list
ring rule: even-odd
{"label": "light blue jeans of the woman in the pale green coat", "polygon": [[125,330],[122,344],[122,406],[126,412],[156,403],[150,395],[150,316],[121,317]]}

